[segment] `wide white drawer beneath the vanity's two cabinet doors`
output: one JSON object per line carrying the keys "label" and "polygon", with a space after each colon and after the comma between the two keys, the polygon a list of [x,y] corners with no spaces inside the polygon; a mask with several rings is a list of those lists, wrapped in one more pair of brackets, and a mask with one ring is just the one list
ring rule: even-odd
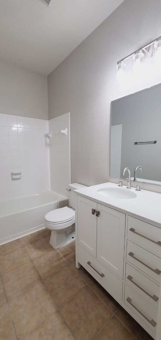
{"label": "wide white drawer beneath the vanity's two cabinet doors", "polygon": [[78,245],[78,262],[110,293],[122,300],[123,283],[92,255]]}

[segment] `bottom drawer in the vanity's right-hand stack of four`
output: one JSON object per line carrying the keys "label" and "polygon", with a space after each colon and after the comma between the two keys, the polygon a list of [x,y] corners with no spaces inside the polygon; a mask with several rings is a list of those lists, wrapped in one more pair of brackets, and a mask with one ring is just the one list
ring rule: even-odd
{"label": "bottom drawer in the vanity's right-hand stack of four", "polygon": [[125,300],[128,306],[145,324],[156,333],[158,312],[125,285]]}

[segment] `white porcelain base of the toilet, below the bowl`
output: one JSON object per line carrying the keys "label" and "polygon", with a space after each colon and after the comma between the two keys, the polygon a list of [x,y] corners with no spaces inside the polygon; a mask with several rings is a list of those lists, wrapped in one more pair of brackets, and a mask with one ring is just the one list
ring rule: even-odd
{"label": "white porcelain base of the toilet, below the bowl", "polygon": [[73,241],[75,241],[75,223],[69,228],[51,232],[50,244],[54,249],[64,247]]}

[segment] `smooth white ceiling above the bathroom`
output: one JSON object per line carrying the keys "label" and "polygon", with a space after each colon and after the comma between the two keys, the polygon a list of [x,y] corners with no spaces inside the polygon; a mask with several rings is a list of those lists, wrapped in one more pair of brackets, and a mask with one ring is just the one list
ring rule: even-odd
{"label": "smooth white ceiling above the bathroom", "polygon": [[0,58],[48,75],[122,2],[0,0]]}

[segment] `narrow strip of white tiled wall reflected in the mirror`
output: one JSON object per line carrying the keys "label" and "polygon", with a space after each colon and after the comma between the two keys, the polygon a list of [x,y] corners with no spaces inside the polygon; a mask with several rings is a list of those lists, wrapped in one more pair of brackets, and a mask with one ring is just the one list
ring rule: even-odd
{"label": "narrow strip of white tiled wall reflected in the mirror", "polygon": [[110,176],[120,178],[122,124],[111,126]]}

